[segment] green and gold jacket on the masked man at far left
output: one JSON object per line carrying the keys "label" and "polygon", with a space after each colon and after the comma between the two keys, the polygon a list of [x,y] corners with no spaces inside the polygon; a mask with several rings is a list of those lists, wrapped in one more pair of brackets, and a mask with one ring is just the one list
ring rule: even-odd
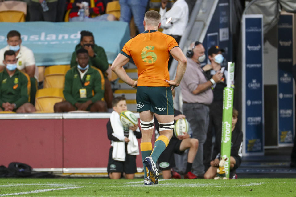
{"label": "green and gold jacket on the masked man at far left", "polygon": [[0,106],[15,103],[16,108],[30,101],[31,82],[26,73],[16,69],[12,77],[6,69],[0,72]]}

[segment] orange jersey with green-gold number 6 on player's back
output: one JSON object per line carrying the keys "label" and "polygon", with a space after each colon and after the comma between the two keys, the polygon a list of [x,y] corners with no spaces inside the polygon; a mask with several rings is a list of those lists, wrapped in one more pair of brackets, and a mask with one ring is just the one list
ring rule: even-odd
{"label": "orange jersey with green-gold number 6 on player's back", "polygon": [[144,31],[125,43],[121,54],[133,58],[138,68],[138,86],[170,86],[167,63],[176,40],[157,30]]}

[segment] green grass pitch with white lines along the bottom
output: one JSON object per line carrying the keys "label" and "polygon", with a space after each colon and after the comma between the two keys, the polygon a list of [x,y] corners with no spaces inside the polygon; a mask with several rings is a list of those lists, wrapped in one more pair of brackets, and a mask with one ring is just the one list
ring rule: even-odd
{"label": "green grass pitch with white lines along the bottom", "polygon": [[142,179],[1,178],[0,196],[296,197],[296,179],[160,179],[158,185],[144,186]]}

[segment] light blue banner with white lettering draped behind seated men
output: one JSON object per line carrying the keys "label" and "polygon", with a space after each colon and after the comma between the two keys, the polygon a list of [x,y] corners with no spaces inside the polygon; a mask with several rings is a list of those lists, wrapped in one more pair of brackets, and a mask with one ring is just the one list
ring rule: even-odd
{"label": "light blue banner with white lettering draped behind seated men", "polygon": [[93,33],[95,44],[104,48],[109,64],[130,39],[129,24],[121,21],[1,22],[0,48],[7,46],[10,30],[21,33],[22,45],[33,51],[37,66],[70,64],[82,30]]}

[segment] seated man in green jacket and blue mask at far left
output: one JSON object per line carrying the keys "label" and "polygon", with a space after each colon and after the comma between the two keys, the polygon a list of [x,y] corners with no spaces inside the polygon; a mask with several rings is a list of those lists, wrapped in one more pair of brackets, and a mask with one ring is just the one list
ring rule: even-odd
{"label": "seated man in green jacket and blue mask at far left", "polygon": [[17,59],[13,50],[3,54],[5,69],[0,72],[0,111],[31,113],[35,107],[30,100],[30,78],[17,69]]}

